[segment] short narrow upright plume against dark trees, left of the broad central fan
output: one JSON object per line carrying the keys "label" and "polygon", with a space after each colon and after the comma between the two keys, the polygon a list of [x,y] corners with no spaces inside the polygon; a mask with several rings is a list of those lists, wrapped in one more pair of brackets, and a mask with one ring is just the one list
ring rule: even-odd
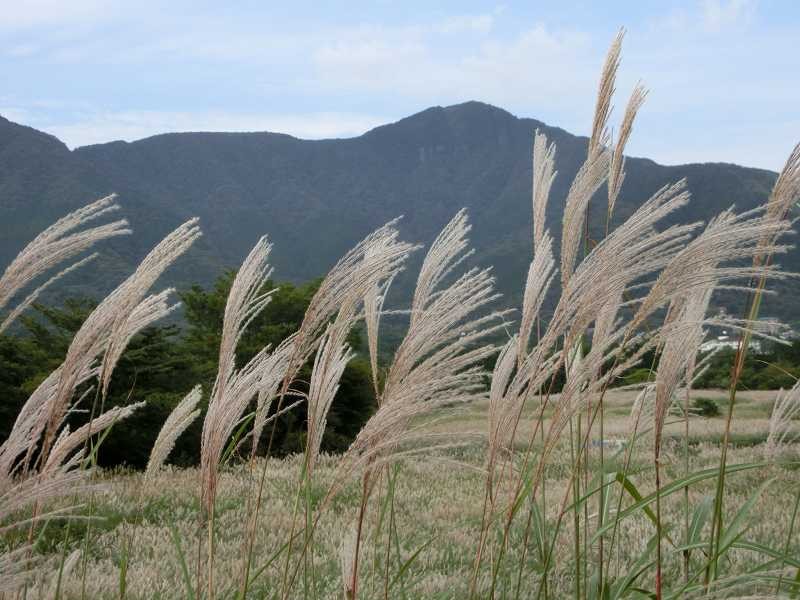
{"label": "short narrow upright plume against dark trees, left of the broad central fan", "polygon": [[355,306],[343,306],[336,321],[328,327],[322,337],[311,382],[308,388],[308,435],[306,441],[306,472],[310,477],[320,447],[328,419],[328,411],[339,389],[339,380],[354,353],[347,345],[347,334],[355,321]]}

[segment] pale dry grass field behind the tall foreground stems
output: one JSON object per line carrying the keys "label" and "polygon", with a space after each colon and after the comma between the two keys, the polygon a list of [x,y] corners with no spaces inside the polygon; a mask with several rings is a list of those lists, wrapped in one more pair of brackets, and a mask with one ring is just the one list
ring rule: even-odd
{"label": "pale dry grass field behind the tall foreground stems", "polygon": [[[721,392],[715,391],[698,391],[694,395],[723,397]],[[609,394],[609,412],[615,416],[608,419],[607,430],[614,434],[625,430],[633,396],[631,392]],[[769,392],[744,396],[746,405],[753,404],[765,411],[768,411],[768,405],[774,398],[774,394]],[[475,431],[485,426],[486,411],[486,402],[471,404],[460,415],[451,417],[446,423],[439,421],[432,429],[459,435]],[[735,433],[766,435],[767,421],[764,418],[738,419]],[[721,417],[698,417],[690,422],[692,435],[699,437],[709,434],[718,436],[724,424]],[[436,452],[433,456],[409,459],[399,469],[396,522],[401,552],[408,558],[421,545],[430,542],[404,581],[408,598],[458,599],[467,595],[482,515],[484,445],[484,441],[472,441],[459,448]],[[633,470],[647,469],[651,452],[649,443],[644,440],[638,443],[633,458]],[[791,449],[796,458],[798,452],[800,446]],[[759,461],[761,454],[762,448],[759,445],[737,447],[731,450],[731,463]],[[718,455],[718,446],[698,441],[692,446],[692,470],[714,466]],[[668,475],[677,476],[680,473],[678,449],[667,444],[666,456]],[[321,496],[324,493],[327,484],[336,474],[338,463],[337,457],[321,457],[315,474],[315,494]],[[289,537],[295,485],[302,469],[302,457],[269,460],[266,469],[268,484],[264,504],[269,509],[263,511],[259,517],[255,541],[255,570]],[[560,497],[566,490],[569,473],[568,452],[557,452],[548,467],[548,494],[552,494],[553,498]],[[744,472],[731,476],[727,490],[728,510],[734,511],[744,503],[753,489],[770,477],[775,478],[774,484],[764,493],[748,532],[748,539],[761,543],[771,543],[785,536],[786,515],[792,509],[792,492],[797,483],[797,471],[770,467],[766,471]],[[194,556],[197,544],[202,539],[202,534],[198,537],[202,530],[202,515],[196,500],[198,472],[195,469],[167,469],[156,474],[152,485],[144,488],[142,478],[139,473],[107,473],[103,477],[107,491],[97,500],[97,512],[105,515],[114,525],[102,526],[108,528],[94,540],[88,563],[90,576],[87,578],[86,597],[118,597],[118,552],[132,527],[131,521],[137,514],[139,502],[144,518],[137,525],[136,543],[130,557],[128,598],[149,600],[174,598],[182,594],[184,582],[171,528],[174,526],[177,529],[184,554],[187,557]],[[636,482],[642,493],[653,491],[652,470],[639,473]],[[239,550],[248,523],[244,499],[251,493],[252,486],[250,471],[245,466],[227,469],[220,474],[215,581],[219,597],[230,597],[231,591],[238,588],[241,569]],[[140,499],[142,489],[145,491]],[[692,487],[690,501],[696,505],[712,494],[712,483],[705,482]],[[339,545],[343,534],[351,528],[359,501],[358,485],[354,483],[334,501],[331,510],[322,513],[313,547],[313,560],[318,574],[318,598],[341,597]],[[680,519],[681,502],[682,497],[678,495],[669,497],[664,507],[668,519]],[[555,502],[548,506],[549,520],[555,520],[557,509]],[[372,540],[376,530],[375,518],[376,512],[373,511],[366,519],[367,543],[366,548],[362,548],[360,577],[364,598],[383,597],[383,557],[381,553],[374,555],[376,546],[380,548],[382,543],[374,543]],[[553,581],[560,587],[550,590],[552,597],[563,597],[571,589],[569,535],[568,530],[563,530],[562,543],[556,546]],[[618,560],[624,565],[632,562],[643,551],[644,545],[652,536],[652,523],[644,515],[628,519],[623,522],[619,535],[625,543],[617,546],[620,553]],[[795,552],[800,552],[800,540],[796,540]],[[59,557],[60,554],[56,552],[50,554],[48,560],[55,565]],[[750,566],[752,553],[737,550],[730,555],[730,559],[732,562],[729,568],[732,572],[737,569],[743,571]],[[252,597],[269,597],[269,593],[280,586],[279,564],[276,562],[253,582]],[[677,564],[673,568],[677,568]],[[480,587],[485,594],[488,581],[482,580]],[[64,591],[65,598],[81,597],[80,572],[74,571],[67,578]],[[290,597],[303,597],[302,589],[295,590]],[[392,597],[402,596],[398,590],[398,595]]]}

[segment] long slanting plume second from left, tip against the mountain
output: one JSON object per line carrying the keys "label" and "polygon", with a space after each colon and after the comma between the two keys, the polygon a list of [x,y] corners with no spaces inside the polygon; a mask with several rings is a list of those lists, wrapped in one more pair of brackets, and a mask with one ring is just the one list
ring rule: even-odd
{"label": "long slanting plume second from left, tip against the mountain", "polygon": [[128,279],[106,296],[81,325],[67,350],[58,390],[51,405],[42,448],[45,459],[56,429],[75,392],[85,362],[103,354],[109,345],[116,347],[110,356],[103,357],[100,366],[101,381],[110,376],[108,372],[114,367],[110,359],[121,353],[119,340],[130,339],[132,335],[129,317],[137,312],[139,303],[166,268],[186,252],[198,237],[200,229],[197,227],[197,219],[187,221],[170,233],[145,256]]}

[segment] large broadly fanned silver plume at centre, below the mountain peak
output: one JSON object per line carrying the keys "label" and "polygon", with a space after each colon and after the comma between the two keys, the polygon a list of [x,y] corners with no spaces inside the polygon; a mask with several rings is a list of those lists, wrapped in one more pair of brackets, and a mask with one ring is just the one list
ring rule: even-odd
{"label": "large broadly fanned silver plume at centre, below the mountain peak", "polygon": [[408,437],[411,420],[437,407],[484,397],[480,361],[495,352],[481,345],[504,313],[476,316],[498,296],[488,270],[471,269],[449,285],[444,279],[471,254],[469,225],[460,211],[431,245],[420,270],[409,329],[395,353],[377,412],[348,449],[344,475],[391,460]]}

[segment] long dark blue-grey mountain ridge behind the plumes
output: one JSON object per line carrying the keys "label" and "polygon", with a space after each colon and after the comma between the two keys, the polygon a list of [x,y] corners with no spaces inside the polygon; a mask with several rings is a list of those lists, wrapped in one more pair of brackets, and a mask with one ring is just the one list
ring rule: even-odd
{"label": "long dark blue-grey mountain ridge behind the plumes", "polygon": [[[326,272],[374,228],[404,215],[405,239],[430,242],[462,207],[474,225],[480,265],[493,265],[508,305],[519,303],[530,259],[531,144],[536,129],[557,145],[548,227],[558,233],[568,185],[587,139],[479,102],[434,107],[350,139],[301,140],[278,133],[176,133],[70,151],[56,138],[0,118],[0,265],[69,210],[117,192],[135,234],[108,242],[92,270],[62,293],[108,290],[157,240],[191,216],[204,237],[169,273],[170,283],[208,283],[238,265],[264,233],[277,279]],[[748,209],[776,174],[732,164],[663,166],[629,158],[615,222],[659,187],[686,178],[693,199],[671,222]],[[590,216],[599,234],[604,200]],[[101,264],[102,263],[102,264]],[[797,270],[800,253],[784,257]],[[398,282],[408,289],[410,276]],[[766,312],[800,320],[782,286]],[[741,302],[732,297],[734,304]]]}

